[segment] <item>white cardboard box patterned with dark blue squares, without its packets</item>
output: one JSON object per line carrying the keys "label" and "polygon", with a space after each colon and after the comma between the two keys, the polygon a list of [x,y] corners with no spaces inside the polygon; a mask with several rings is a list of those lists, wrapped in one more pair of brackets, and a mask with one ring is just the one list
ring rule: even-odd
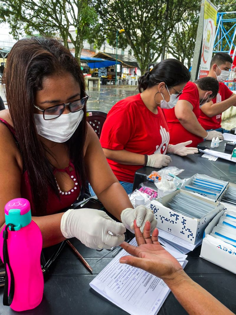
{"label": "white cardboard box patterned with dark blue squares, without its packets", "polygon": [[[206,203],[214,205],[215,209],[203,216],[201,219],[196,219],[182,215],[166,207],[166,203],[180,192],[190,195],[196,198],[196,200],[204,200]],[[166,232],[170,232],[172,235],[182,238],[189,243],[195,244],[203,237],[205,227],[224,208],[224,206],[217,202],[203,199],[200,196],[193,195],[189,192],[186,192],[185,190],[180,189],[157,199],[157,201],[152,200],[150,208],[153,210],[157,219],[157,227]]]}

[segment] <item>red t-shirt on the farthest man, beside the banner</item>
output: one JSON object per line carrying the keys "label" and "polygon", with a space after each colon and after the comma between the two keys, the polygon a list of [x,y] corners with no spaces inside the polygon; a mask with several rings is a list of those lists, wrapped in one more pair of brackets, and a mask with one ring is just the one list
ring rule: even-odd
{"label": "red t-shirt on the farthest man, beside the banner", "polygon": [[[214,99],[212,99],[213,104],[227,100],[233,92],[224,83],[219,82],[219,92]],[[221,114],[213,117],[208,117],[204,112],[200,111],[200,117],[198,118],[199,123],[205,130],[221,128]]]}

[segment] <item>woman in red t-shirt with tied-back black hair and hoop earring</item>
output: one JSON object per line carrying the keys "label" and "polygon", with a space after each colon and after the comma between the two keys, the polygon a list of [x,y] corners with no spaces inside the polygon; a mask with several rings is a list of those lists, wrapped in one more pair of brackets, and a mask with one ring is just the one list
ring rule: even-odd
{"label": "woman in red t-shirt with tied-back black hair and hoop earring", "polygon": [[170,103],[177,100],[189,79],[188,69],[180,61],[163,60],[139,78],[139,94],[120,100],[108,113],[100,142],[126,192],[132,192],[134,174],[140,167],[167,166],[171,157],[166,152],[184,156],[198,151],[186,148],[189,141],[169,145],[169,129],[161,109],[173,106]]}

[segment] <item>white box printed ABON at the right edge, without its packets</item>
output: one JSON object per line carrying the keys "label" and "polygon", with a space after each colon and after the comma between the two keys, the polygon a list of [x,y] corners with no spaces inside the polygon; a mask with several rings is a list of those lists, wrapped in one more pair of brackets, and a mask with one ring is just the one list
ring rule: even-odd
{"label": "white box printed ABON at the right edge, without its packets", "polygon": [[[204,232],[200,257],[213,264],[236,273],[236,247],[210,235],[225,210],[218,213]],[[230,209],[232,211],[232,209]],[[234,209],[236,213],[236,207]]]}

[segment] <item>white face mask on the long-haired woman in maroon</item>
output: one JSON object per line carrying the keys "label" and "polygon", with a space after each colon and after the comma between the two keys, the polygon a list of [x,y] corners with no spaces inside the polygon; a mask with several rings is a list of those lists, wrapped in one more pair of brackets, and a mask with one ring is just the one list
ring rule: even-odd
{"label": "white face mask on the long-haired woman in maroon", "polygon": [[[53,118],[53,115],[45,116]],[[74,134],[83,116],[84,112],[81,110],[62,114],[60,117],[52,120],[43,119],[42,114],[34,114],[34,119],[39,135],[54,142],[65,142]]]}

